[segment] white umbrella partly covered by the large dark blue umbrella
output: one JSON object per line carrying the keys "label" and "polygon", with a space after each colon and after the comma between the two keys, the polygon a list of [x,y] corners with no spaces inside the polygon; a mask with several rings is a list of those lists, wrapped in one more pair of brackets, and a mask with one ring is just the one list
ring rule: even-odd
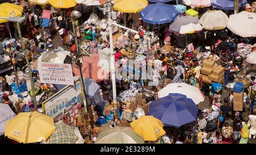
{"label": "white umbrella partly covered by the large dark blue umbrella", "polygon": [[188,85],[187,83],[170,83],[158,92],[158,97],[163,98],[170,93],[186,95],[187,98],[191,98],[196,105],[204,101],[204,95],[201,90],[195,86]]}

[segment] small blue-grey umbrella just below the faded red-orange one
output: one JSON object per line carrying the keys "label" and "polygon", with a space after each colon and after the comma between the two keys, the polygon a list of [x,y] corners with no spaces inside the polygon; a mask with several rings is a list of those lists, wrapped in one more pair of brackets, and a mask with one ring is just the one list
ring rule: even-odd
{"label": "small blue-grey umbrella just below the faded red-orange one", "polygon": [[84,78],[84,87],[88,98],[94,97],[101,90],[98,83],[90,78]]}

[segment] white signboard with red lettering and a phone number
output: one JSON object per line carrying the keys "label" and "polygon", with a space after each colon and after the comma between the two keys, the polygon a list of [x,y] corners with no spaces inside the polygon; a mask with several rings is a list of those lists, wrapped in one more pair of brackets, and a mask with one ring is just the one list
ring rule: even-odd
{"label": "white signboard with red lettering and a phone number", "polygon": [[74,85],[71,64],[39,62],[38,72],[41,83]]}

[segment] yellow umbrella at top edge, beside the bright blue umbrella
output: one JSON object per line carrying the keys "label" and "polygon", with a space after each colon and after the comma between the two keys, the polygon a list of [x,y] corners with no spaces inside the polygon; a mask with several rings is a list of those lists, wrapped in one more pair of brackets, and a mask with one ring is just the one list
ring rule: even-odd
{"label": "yellow umbrella at top edge, beside the bright blue umbrella", "polygon": [[147,0],[115,0],[114,9],[125,13],[137,13],[147,6]]}

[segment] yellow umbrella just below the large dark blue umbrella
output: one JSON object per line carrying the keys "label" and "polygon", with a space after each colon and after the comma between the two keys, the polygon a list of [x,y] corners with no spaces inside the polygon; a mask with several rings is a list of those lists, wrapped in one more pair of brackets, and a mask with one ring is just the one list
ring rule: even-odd
{"label": "yellow umbrella just below the large dark blue umbrella", "polygon": [[131,122],[130,125],[138,135],[143,137],[144,141],[156,141],[166,134],[163,123],[154,116],[141,116],[141,118]]}

